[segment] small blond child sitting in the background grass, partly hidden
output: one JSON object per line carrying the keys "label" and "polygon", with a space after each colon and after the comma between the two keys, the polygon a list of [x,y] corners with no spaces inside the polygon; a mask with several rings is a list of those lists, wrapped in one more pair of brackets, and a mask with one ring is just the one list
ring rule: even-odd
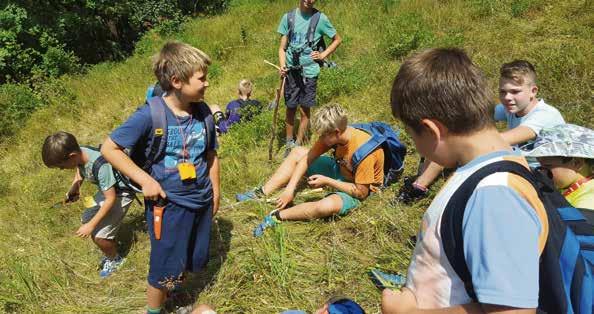
{"label": "small blond child sitting in the background grass, partly hidden", "polygon": [[227,104],[225,114],[223,114],[219,106],[211,106],[221,134],[227,133],[233,124],[250,121],[255,115],[262,112],[260,102],[251,99],[253,89],[254,84],[252,81],[243,79],[239,81],[237,88],[239,98]]}

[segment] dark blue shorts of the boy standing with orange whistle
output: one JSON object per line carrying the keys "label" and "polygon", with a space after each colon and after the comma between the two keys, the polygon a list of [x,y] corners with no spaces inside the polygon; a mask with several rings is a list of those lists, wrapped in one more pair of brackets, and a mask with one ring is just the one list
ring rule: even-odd
{"label": "dark blue shorts of the boy standing with orange whistle", "polygon": [[163,212],[161,239],[155,239],[153,202],[145,201],[151,239],[148,283],[172,290],[182,282],[184,272],[197,272],[208,262],[212,209],[198,211],[168,203]]}

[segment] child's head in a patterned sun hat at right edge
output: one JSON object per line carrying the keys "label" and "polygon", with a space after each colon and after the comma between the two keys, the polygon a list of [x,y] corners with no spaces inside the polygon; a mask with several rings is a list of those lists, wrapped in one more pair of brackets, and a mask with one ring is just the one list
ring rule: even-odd
{"label": "child's head in a patterned sun hat at right edge", "polygon": [[573,124],[543,129],[526,156],[536,157],[540,169],[557,188],[567,186],[594,169],[594,131]]}

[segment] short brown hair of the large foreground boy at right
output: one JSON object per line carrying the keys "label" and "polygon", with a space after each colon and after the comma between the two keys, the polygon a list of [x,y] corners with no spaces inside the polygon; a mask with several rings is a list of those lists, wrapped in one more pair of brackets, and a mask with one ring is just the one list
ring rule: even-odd
{"label": "short brown hair of the large foreground boy at right", "polygon": [[457,48],[428,49],[407,58],[392,85],[392,114],[416,132],[435,119],[453,134],[494,126],[493,96],[481,70]]}

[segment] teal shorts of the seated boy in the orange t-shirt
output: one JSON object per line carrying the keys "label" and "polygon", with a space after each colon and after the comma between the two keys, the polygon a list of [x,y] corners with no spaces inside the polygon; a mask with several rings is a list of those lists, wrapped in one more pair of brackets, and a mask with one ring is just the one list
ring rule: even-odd
{"label": "teal shorts of the seated boy in the orange t-shirt", "polygon": [[[340,166],[336,163],[336,160],[330,156],[318,157],[311,165],[309,165],[305,174],[307,176],[321,174],[334,180],[346,181],[344,176],[340,173]],[[342,207],[338,212],[339,216],[348,214],[351,210],[361,204],[361,201],[359,201],[356,197],[353,197],[345,192],[333,192],[327,194],[326,196],[332,194],[340,196],[340,199],[342,200]]]}

